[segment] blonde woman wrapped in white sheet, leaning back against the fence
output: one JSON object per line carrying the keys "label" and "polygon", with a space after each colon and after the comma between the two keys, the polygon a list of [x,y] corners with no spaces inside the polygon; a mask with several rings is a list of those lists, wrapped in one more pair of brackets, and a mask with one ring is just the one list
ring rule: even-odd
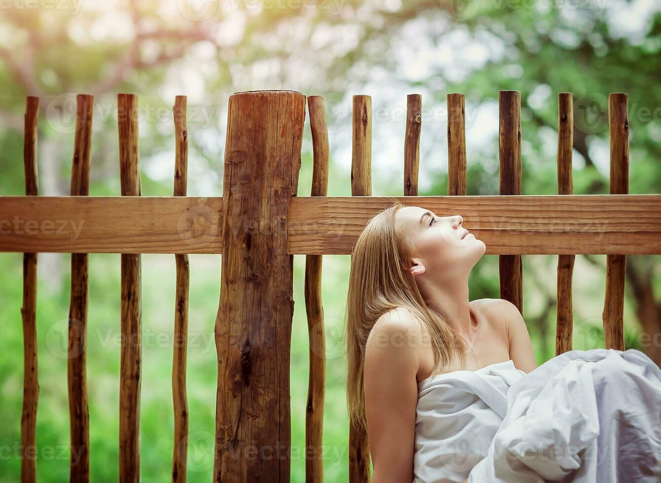
{"label": "blonde woman wrapped in white sheet, leaning back against the fence", "polygon": [[[475,474],[479,473],[479,478],[507,481],[495,476],[499,472],[512,474],[514,479],[510,481],[523,481],[520,478],[525,475],[530,477],[526,481],[541,482],[540,475],[578,472],[573,466],[584,456],[588,436],[596,445],[598,431],[590,432],[594,428],[588,423],[594,426],[603,414],[589,406],[590,401],[584,396],[587,385],[595,393],[596,384],[592,385],[594,378],[586,379],[592,377],[588,366],[580,372],[573,360],[584,363],[583,359],[590,359],[581,359],[586,352],[572,351],[551,359],[555,366],[545,363],[537,368],[525,322],[516,306],[502,299],[469,301],[469,273],[485,250],[485,243],[463,227],[460,215],[439,217],[399,202],[377,213],[356,241],[345,332],[347,399],[352,424],[368,431],[373,483],[467,482],[478,463]],[[609,355],[612,363],[615,352],[596,350],[592,362],[605,360]],[[637,352],[637,363],[654,365],[648,358],[641,362],[642,353],[638,351],[626,353],[631,356],[631,352]],[[623,363],[622,357],[617,359]],[[634,365],[631,361],[628,364]],[[551,369],[555,373],[550,373]],[[582,374],[582,379],[568,375],[570,369]],[[646,387],[658,398],[652,400],[661,402],[661,371],[656,373],[654,369],[659,371],[655,365],[645,367]],[[541,377],[524,377],[531,371]],[[627,371],[617,372],[624,375]],[[558,374],[563,377],[554,379]],[[569,381],[571,377],[574,381]],[[577,385],[576,379],[582,385]],[[640,383],[637,377],[629,379]],[[569,381],[566,387],[555,389],[582,397],[590,408],[571,418],[561,418],[564,429],[578,436],[571,442],[583,444],[578,456],[572,453],[563,461],[554,461],[553,467],[539,463],[539,457],[531,461],[531,452],[526,448],[516,463],[506,461],[502,455],[499,458],[498,449],[511,453],[522,447],[523,430],[517,427],[534,426],[533,422],[549,427],[548,420],[543,421],[545,417],[554,411],[566,412],[566,406],[558,401],[546,407],[540,403],[529,410],[529,419],[524,420],[529,408],[524,408],[522,401],[537,398],[544,390],[538,382],[551,380],[555,384]],[[613,388],[615,384],[602,386]],[[573,394],[572,387],[582,392]],[[545,390],[553,392],[553,388]],[[534,391],[537,392],[533,397]],[[517,401],[508,402],[508,392],[522,395],[518,407],[512,406]],[[593,401],[596,397],[592,394]],[[539,400],[543,398],[539,396]],[[590,412],[591,409],[594,410]],[[510,427],[509,433],[504,426]],[[503,437],[497,432],[499,428]],[[515,433],[515,429],[519,432]],[[552,436],[557,435],[555,429]],[[534,440],[545,436],[539,433],[530,437]],[[652,434],[650,439],[661,440],[661,432]],[[553,443],[557,441],[549,445]],[[648,448],[650,452],[657,449],[661,447]],[[457,460],[457,455],[463,458]],[[656,464],[656,459],[650,461],[642,463]],[[598,470],[595,464],[590,474]]]}

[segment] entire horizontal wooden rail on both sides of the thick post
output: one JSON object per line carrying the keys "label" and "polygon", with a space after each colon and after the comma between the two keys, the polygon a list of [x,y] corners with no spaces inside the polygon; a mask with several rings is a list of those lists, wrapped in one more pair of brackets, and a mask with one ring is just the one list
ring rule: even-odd
{"label": "entire horizontal wooden rail on both sides of the thick post", "polygon": [[[295,196],[290,254],[350,254],[400,200],[459,213],[487,254],[661,254],[661,195]],[[0,197],[0,252],[220,253],[220,197]],[[236,233],[282,229],[239,227]]]}

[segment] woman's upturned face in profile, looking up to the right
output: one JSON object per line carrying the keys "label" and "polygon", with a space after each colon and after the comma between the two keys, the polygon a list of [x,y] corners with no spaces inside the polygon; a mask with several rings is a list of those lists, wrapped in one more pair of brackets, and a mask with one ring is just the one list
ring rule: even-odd
{"label": "woman's upturned face in profile, looking up to the right", "polygon": [[411,260],[414,275],[468,274],[485,254],[485,243],[461,226],[461,215],[438,217],[422,207],[405,206],[397,211],[396,219],[418,249]]}

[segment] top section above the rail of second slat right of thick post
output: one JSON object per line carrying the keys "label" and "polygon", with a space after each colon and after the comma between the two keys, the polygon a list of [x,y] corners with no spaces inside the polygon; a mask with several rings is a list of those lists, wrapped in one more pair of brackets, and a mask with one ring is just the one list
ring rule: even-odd
{"label": "top section above the rail of second slat right of thick post", "polygon": [[353,101],[351,193],[371,196],[371,97],[356,95]]}

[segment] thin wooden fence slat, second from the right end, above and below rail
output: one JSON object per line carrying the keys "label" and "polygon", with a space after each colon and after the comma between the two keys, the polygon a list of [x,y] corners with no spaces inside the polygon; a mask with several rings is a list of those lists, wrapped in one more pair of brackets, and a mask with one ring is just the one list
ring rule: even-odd
{"label": "thin wooden fence slat, second from the right end, above and below rail", "polygon": [[[574,148],[574,99],[572,93],[558,94],[558,194],[572,194],[572,149]],[[557,318],[555,355],[572,350],[574,315],[572,276],[575,255],[559,255],[557,269]]]}

